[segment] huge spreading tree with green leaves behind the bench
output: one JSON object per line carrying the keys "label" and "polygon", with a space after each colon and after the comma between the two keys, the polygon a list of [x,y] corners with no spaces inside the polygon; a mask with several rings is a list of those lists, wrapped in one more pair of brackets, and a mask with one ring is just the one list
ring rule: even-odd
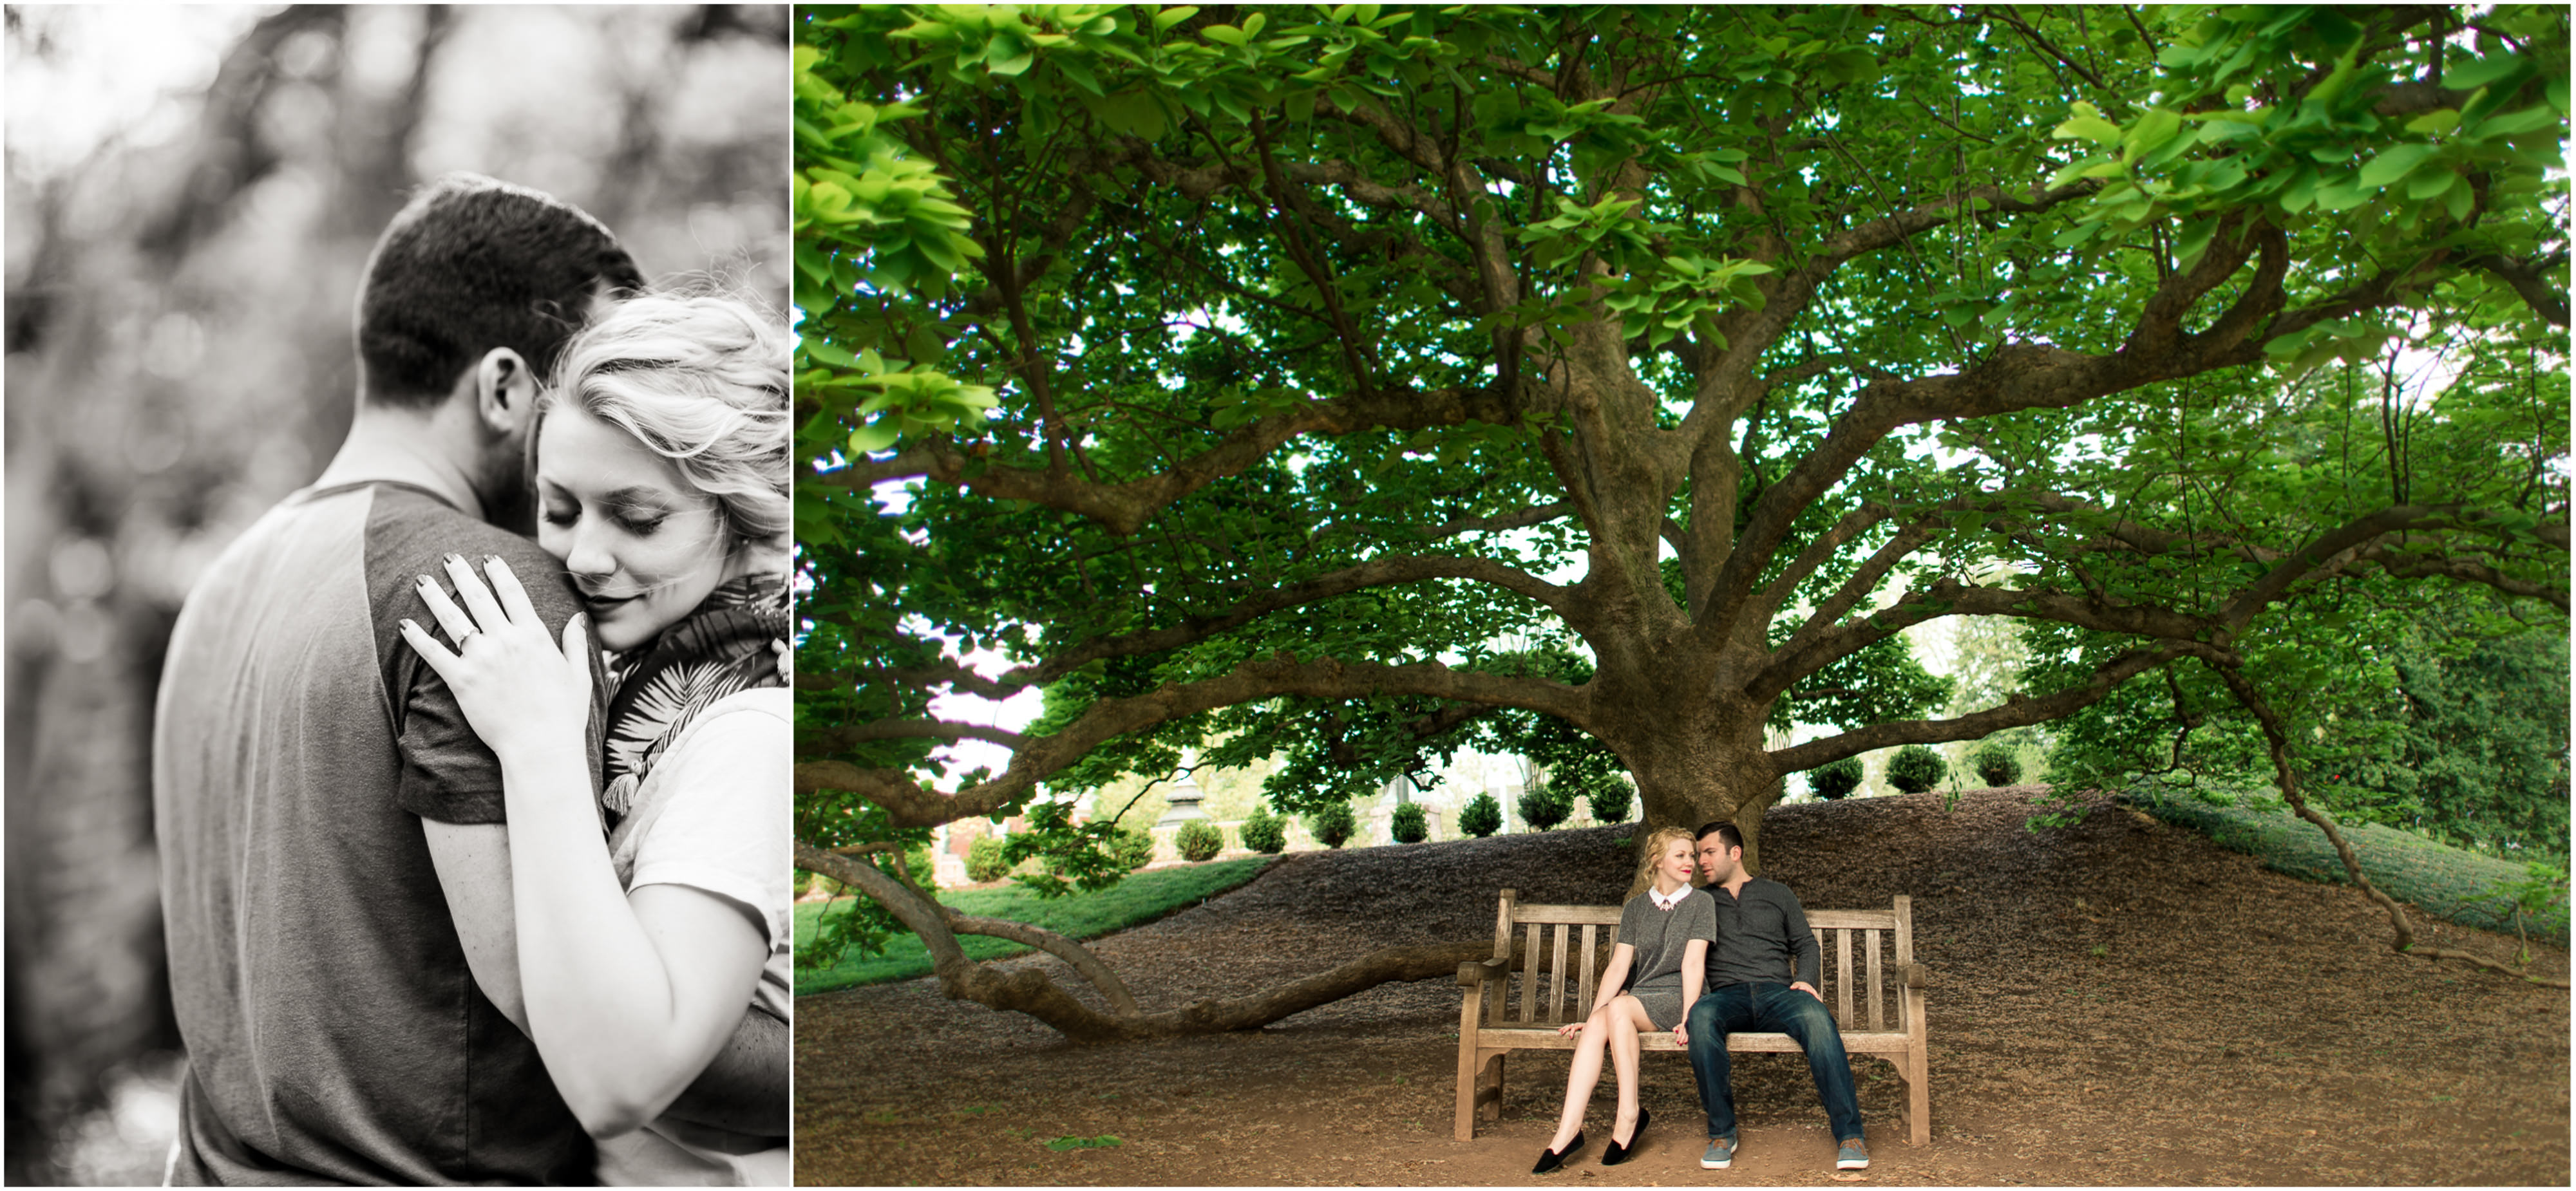
{"label": "huge spreading tree with green leaves behind the bench", "polygon": [[[2184,670],[2295,797],[2334,608],[2563,626],[2563,8],[799,13],[799,864],[953,992],[1146,1031],[896,856],[1185,745],[1280,809],[1592,758],[1759,848]],[[2050,681],[1937,717],[1942,616]]]}

